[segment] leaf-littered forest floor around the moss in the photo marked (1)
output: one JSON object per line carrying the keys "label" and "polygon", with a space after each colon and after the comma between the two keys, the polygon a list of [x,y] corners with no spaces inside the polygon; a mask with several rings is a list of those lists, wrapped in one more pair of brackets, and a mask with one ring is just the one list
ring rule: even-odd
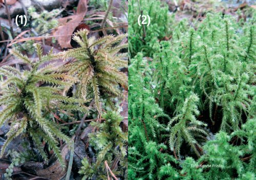
{"label": "leaf-littered forest floor around the moss in the photo marked (1)", "polygon": [[[73,35],[83,29],[89,30],[88,38],[96,39],[104,35],[113,34],[115,36],[127,32],[127,2],[112,1],[87,1],[87,0],[54,0],[54,1],[0,1],[0,67],[12,66],[19,70],[26,70],[28,66],[14,56],[11,56],[9,49],[16,48],[23,55],[30,59],[37,58],[33,44],[40,43],[42,52],[46,55],[51,48],[53,53],[60,53],[66,50],[79,47],[78,43],[72,39]],[[111,7],[111,8],[109,8]],[[8,8],[8,11],[6,11]],[[109,11],[109,12],[108,12]],[[107,13],[108,12],[108,13]],[[15,23],[17,15],[26,15],[27,24],[23,26],[18,19],[19,27]],[[25,19],[23,19],[25,21]],[[123,39],[120,44],[125,44],[127,39]],[[124,52],[126,50],[124,49]],[[127,60],[127,59],[126,59]],[[54,60],[56,66],[69,64],[73,60],[63,61],[63,59]],[[122,68],[122,72],[127,74],[127,68]],[[1,75],[1,80],[6,77]],[[1,87],[0,87],[1,89]],[[123,98],[113,98],[112,104],[116,105],[114,109],[120,112],[123,117],[121,128],[127,132],[127,88],[123,89]],[[109,102],[103,102],[103,111],[108,109]],[[0,111],[3,106],[0,107]],[[8,146],[6,153],[0,159],[0,179],[81,179],[82,175],[78,174],[82,164],[81,160],[90,153],[91,147],[88,148],[88,133],[92,132],[90,122],[99,120],[95,110],[90,115],[70,114],[66,112],[52,113],[49,119],[56,122],[72,139],[78,141],[74,145],[73,165],[70,173],[70,167],[67,166],[62,171],[59,164],[53,158],[52,151],[48,151],[48,157],[51,158],[48,165],[42,161],[36,161],[30,153],[26,153],[28,138],[17,137]],[[83,123],[82,123],[83,122]],[[79,128],[79,126],[81,126]],[[81,129],[82,128],[82,129]],[[10,124],[0,127],[0,146],[3,146],[6,134],[10,130]],[[77,137],[78,136],[78,137]],[[43,145],[44,142],[42,142]],[[60,146],[62,142],[60,141]],[[66,148],[66,146],[64,146]],[[66,160],[70,159],[70,152],[67,149],[61,150]],[[92,152],[94,154],[94,152]],[[37,155],[36,155],[37,156]],[[13,162],[19,159],[19,163]],[[21,159],[21,160],[20,160]],[[95,159],[95,157],[92,157]],[[111,167],[112,168],[112,167]],[[9,173],[11,171],[11,173]],[[6,174],[9,173],[9,176]]]}

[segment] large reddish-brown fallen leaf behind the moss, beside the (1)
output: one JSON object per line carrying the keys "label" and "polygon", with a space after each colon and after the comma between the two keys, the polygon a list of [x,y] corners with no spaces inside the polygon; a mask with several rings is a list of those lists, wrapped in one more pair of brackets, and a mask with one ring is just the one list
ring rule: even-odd
{"label": "large reddish-brown fallen leaf behind the moss, beside the (1)", "polygon": [[[60,18],[59,27],[53,32],[54,36],[57,36],[59,45],[61,48],[70,48],[71,36],[79,23],[83,20],[83,17],[87,13],[87,0],[80,0],[77,6],[77,11],[75,15]],[[69,34],[69,36],[60,36],[63,34]]]}

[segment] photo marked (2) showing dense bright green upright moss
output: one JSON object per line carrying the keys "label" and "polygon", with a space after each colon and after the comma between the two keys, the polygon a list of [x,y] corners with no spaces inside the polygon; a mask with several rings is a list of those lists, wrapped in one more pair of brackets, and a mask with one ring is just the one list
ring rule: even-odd
{"label": "photo marked (2) showing dense bright green upright moss", "polygon": [[254,180],[255,1],[129,0],[129,180]]}

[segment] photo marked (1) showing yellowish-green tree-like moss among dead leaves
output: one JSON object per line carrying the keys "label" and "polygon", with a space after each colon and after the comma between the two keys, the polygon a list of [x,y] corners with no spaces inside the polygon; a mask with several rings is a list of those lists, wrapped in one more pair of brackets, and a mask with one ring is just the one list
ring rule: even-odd
{"label": "photo marked (1) showing yellowish-green tree-like moss among dead leaves", "polygon": [[127,12],[0,0],[0,179],[127,179]]}

